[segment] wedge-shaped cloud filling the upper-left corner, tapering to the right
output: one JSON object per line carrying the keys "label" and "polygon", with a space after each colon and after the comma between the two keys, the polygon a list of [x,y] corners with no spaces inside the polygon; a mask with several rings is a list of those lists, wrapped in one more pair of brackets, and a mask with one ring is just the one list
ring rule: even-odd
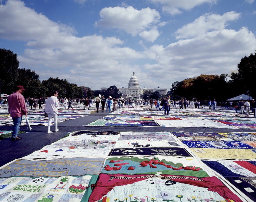
{"label": "wedge-shaped cloud filling the upper-left corner, tapering to the right", "polygon": [[0,19],[0,37],[4,39],[41,40],[76,33],[72,27],[49,20],[45,15],[25,7],[21,1],[10,0],[5,5],[0,5]]}

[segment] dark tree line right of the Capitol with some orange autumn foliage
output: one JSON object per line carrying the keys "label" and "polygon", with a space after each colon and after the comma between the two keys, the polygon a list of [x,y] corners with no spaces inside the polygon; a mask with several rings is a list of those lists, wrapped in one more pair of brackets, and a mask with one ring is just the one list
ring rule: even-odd
{"label": "dark tree line right of the Capitol with some orange autumn foliage", "polygon": [[225,101],[240,94],[256,96],[256,50],[254,54],[244,56],[237,65],[237,72],[230,75],[204,75],[175,81],[167,92],[172,99],[182,97],[189,100],[216,99]]}

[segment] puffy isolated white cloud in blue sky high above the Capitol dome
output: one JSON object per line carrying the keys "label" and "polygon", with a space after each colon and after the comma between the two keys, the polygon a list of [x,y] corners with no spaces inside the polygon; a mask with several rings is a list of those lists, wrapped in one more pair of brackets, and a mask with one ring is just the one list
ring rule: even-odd
{"label": "puffy isolated white cloud in blue sky high above the Capitol dome", "polygon": [[100,18],[95,22],[95,26],[124,30],[136,36],[159,23],[160,14],[149,7],[137,10],[132,6],[127,8],[117,6],[103,8],[100,11]]}

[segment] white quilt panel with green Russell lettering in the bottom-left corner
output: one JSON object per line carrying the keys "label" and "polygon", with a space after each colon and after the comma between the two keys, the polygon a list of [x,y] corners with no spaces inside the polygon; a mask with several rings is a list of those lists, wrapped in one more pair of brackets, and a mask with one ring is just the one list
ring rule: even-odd
{"label": "white quilt panel with green Russell lettering in the bottom-left corner", "polygon": [[80,202],[91,177],[0,178],[0,201]]}

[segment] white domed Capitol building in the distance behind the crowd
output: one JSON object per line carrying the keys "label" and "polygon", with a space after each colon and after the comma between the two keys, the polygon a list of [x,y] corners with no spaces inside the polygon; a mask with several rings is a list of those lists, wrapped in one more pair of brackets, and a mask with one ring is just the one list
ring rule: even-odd
{"label": "white domed Capitol building in the distance behind the crowd", "polygon": [[[100,88],[101,90],[107,90],[107,87]],[[140,88],[140,83],[138,81],[138,78],[135,76],[134,70],[133,75],[129,80],[128,88],[118,88],[119,92],[122,93],[123,98],[135,98],[135,99],[142,99],[143,97],[143,91],[147,90],[150,92],[158,91],[161,95],[167,94],[166,88]]]}

